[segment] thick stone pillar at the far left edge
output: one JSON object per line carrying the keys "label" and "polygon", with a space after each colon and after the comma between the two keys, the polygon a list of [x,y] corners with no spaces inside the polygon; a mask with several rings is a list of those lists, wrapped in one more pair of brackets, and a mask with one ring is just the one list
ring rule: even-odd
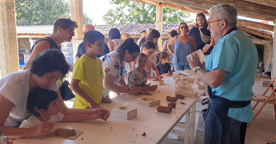
{"label": "thick stone pillar at the far left edge", "polygon": [[0,0],[0,63],[2,77],[19,70],[14,0]]}

